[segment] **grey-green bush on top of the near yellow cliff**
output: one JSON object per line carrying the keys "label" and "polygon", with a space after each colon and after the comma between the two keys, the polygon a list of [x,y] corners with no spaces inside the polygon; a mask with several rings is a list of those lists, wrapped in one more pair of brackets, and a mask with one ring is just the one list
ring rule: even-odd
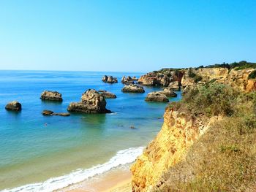
{"label": "grey-green bush on top of the near yellow cliff", "polygon": [[191,88],[178,104],[171,103],[170,107],[176,110],[181,107],[181,110],[187,110],[194,116],[233,115],[237,96],[238,92],[229,85],[208,83]]}

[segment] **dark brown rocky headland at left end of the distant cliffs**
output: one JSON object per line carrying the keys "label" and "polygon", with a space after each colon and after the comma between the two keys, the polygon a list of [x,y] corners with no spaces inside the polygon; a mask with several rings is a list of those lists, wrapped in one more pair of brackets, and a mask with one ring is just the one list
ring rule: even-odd
{"label": "dark brown rocky headland at left end of the distant cliffs", "polygon": [[141,76],[138,83],[146,86],[165,86],[167,87],[170,82],[181,82],[184,75],[184,69],[162,69],[156,72],[150,72]]}

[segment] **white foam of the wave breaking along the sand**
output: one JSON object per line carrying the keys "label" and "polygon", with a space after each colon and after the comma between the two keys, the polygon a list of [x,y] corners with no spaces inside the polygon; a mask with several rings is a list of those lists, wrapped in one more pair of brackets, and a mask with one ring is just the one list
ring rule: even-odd
{"label": "white foam of the wave breaking along the sand", "polygon": [[70,174],[65,174],[60,177],[53,177],[42,183],[33,183],[28,185],[23,185],[18,188],[4,189],[2,192],[20,192],[20,191],[41,191],[48,192],[59,188],[67,187],[68,185],[79,183],[86,180],[89,177],[93,177],[96,174],[102,174],[108,172],[114,167],[130,164],[135,159],[143,153],[144,147],[134,147],[127,150],[119,150],[113,158],[110,158],[105,164],[99,164],[93,166],[90,169],[78,169]]}

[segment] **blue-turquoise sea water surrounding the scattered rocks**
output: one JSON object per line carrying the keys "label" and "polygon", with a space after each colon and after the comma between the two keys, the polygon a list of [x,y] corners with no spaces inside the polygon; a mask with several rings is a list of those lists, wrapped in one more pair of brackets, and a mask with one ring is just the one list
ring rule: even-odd
{"label": "blue-turquoise sea water surrounding the scattered rocks", "polygon": [[[119,82],[104,83],[101,81],[103,74],[118,77]],[[118,157],[115,162],[127,160],[129,163],[131,157],[141,153],[139,147],[146,146],[161,128],[167,104],[144,101],[146,93],[159,88],[144,87],[146,93],[142,94],[122,93],[123,75],[139,77],[141,74],[0,71],[0,190],[29,191],[17,187],[70,175],[77,169],[91,170],[113,157]],[[69,102],[80,101],[82,93],[89,88],[116,93],[117,99],[107,99],[107,108],[112,114],[41,115],[42,110],[66,112]],[[41,101],[39,97],[44,90],[59,91],[64,101]],[[180,98],[178,92],[178,97],[170,101]],[[12,100],[20,101],[21,112],[4,109]],[[111,168],[113,164],[108,166]]]}

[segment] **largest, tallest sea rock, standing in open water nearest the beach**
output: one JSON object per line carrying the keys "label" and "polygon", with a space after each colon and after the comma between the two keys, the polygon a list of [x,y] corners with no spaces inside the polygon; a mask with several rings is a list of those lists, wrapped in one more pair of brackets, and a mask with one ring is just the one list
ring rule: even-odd
{"label": "largest, tallest sea rock, standing in open water nearest the beach", "polygon": [[109,113],[106,109],[106,100],[101,93],[94,89],[89,89],[83,93],[82,101],[72,102],[67,110],[69,112],[85,112],[85,113]]}

